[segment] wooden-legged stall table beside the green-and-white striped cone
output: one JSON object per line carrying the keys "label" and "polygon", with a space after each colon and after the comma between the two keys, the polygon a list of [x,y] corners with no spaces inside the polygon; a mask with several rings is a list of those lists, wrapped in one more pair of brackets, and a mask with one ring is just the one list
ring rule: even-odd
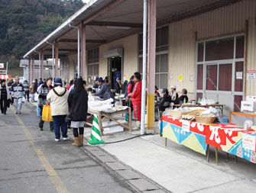
{"label": "wooden-legged stall table beside the green-and-white striped cone", "polygon": [[[115,111],[97,111],[92,108],[88,108],[88,113],[92,114],[92,115],[97,114],[98,122],[99,122],[99,129],[100,129],[100,133],[102,135],[103,135],[103,129],[104,129],[104,127],[102,127],[102,116],[108,118],[111,121],[115,121],[117,124],[121,125],[122,127],[127,128],[129,131],[131,131],[131,108],[130,107],[126,107],[125,109],[117,108],[117,109],[115,109]],[[128,117],[129,117],[128,125],[122,124],[112,117],[115,114],[127,114],[127,113],[128,113]],[[86,122],[86,124],[92,126],[92,124],[89,124],[88,122]]]}

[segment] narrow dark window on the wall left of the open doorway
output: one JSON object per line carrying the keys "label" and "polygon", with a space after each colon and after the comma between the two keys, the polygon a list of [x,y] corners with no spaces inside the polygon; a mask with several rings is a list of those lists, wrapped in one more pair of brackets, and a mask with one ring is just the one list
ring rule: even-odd
{"label": "narrow dark window on the wall left of the open doorway", "polygon": [[93,85],[99,77],[99,47],[87,53],[87,84]]}

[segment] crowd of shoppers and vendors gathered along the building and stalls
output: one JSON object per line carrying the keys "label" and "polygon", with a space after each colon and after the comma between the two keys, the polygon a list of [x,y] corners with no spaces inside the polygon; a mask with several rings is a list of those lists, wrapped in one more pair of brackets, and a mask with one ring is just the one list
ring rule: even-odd
{"label": "crowd of shoppers and vendors gathered along the building and stalls", "polygon": [[[126,105],[131,108],[131,112],[134,114],[135,127],[133,130],[138,130],[141,125],[141,87],[140,72],[134,72],[129,82],[125,80],[122,84],[121,79],[118,78],[115,83],[115,93],[124,95]],[[164,88],[160,95],[157,86],[155,87],[155,110],[158,113],[170,108],[172,103],[179,105],[189,100],[186,89],[182,90],[180,97],[175,85],[171,86],[170,89],[169,92],[167,88]],[[6,114],[10,105],[14,105],[16,114],[21,114],[22,102],[24,100],[29,102],[31,94],[31,101],[37,102],[39,111],[38,129],[44,130],[43,109],[44,105],[50,105],[53,117],[53,121],[50,122],[50,131],[55,133],[55,140],[60,141],[60,135],[62,135],[63,140],[68,140],[67,128],[72,127],[75,139],[73,145],[82,146],[84,124],[88,115],[88,92],[93,96],[102,98],[102,100],[113,98],[115,101],[108,77],[96,79],[92,88],[86,88],[86,81],[82,77],[71,80],[68,85],[66,82],[62,82],[60,78],[39,79],[39,81],[35,79],[31,85],[27,80],[24,80],[21,84],[19,77],[15,77],[15,82],[10,79],[7,84],[5,80],[1,80],[0,106],[2,114]],[[125,119],[128,121],[128,114],[126,114]]]}

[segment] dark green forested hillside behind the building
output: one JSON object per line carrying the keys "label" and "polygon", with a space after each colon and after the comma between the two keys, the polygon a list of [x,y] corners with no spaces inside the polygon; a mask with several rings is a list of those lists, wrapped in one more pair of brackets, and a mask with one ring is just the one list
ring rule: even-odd
{"label": "dark green forested hillside behind the building", "polygon": [[82,0],[0,0],[0,62],[10,67],[83,7]]}

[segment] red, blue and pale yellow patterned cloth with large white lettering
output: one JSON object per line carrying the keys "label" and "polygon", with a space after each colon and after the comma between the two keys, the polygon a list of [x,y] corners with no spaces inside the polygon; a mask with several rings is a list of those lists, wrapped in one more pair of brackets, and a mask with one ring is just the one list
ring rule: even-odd
{"label": "red, blue and pale yellow patterned cloth with large white lettering", "polygon": [[[207,144],[227,153],[256,163],[256,131],[245,129],[235,124],[199,124],[190,122],[190,132],[182,129],[183,120],[171,116],[162,116],[160,133],[163,137],[187,146],[198,153],[206,155]],[[250,141],[249,147],[243,145],[243,136]],[[245,143],[245,140],[244,140]]]}

